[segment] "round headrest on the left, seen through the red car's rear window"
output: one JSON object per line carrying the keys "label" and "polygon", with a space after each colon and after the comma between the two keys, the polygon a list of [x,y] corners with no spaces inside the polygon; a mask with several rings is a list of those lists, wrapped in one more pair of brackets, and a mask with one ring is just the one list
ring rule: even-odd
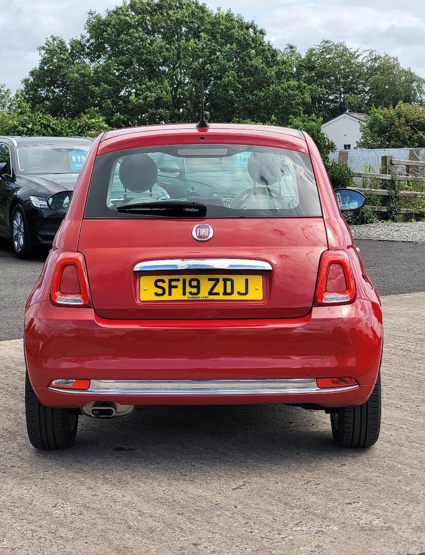
{"label": "round headrest on the left, seen through the red car's rear window", "polygon": [[119,178],[129,191],[143,193],[155,185],[158,168],[147,154],[130,154],[119,166]]}

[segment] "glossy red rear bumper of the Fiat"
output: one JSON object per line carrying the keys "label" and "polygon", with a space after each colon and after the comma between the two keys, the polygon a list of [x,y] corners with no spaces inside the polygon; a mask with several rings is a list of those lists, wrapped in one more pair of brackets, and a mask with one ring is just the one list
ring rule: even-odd
{"label": "glossy red rear bumper of the Fiat", "polygon": [[[47,406],[82,407],[99,398],[127,405],[360,405],[371,395],[380,367],[382,314],[375,303],[357,299],[315,307],[298,319],[105,320],[92,309],[43,301],[26,311],[25,351],[34,391]],[[350,376],[359,385],[331,391],[292,387],[297,380],[310,379],[312,386],[317,377],[331,376]],[[118,380],[121,386],[50,389],[58,378],[90,379],[93,385]],[[167,391],[158,380],[171,384]],[[225,387],[210,387],[217,380],[225,380]],[[236,386],[228,387],[229,380]],[[268,380],[279,387],[264,387]],[[282,386],[285,380],[291,387]],[[188,391],[188,381],[198,385]],[[249,391],[241,381],[251,384]],[[130,383],[125,391],[123,382]]]}

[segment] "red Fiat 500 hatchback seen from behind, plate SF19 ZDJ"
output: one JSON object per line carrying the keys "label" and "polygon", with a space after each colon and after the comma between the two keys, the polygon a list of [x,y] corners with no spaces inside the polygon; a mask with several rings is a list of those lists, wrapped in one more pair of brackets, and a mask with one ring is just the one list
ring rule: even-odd
{"label": "red Fiat 500 hatchback seen from behind, plate SF19 ZDJ", "polygon": [[27,302],[32,445],[69,446],[81,413],[236,403],[326,410],[338,444],[373,445],[382,313],[340,212],[364,201],[293,129],[100,135]]}

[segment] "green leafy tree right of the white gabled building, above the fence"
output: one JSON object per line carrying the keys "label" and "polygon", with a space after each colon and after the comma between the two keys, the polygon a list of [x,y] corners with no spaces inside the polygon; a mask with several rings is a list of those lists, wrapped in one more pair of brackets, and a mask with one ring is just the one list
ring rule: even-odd
{"label": "green leafy tree right of the white gabled building, above the fence", "polygon": [[399,102],[395,108],[372,107],[358,147],[425,148],[425,106]]}

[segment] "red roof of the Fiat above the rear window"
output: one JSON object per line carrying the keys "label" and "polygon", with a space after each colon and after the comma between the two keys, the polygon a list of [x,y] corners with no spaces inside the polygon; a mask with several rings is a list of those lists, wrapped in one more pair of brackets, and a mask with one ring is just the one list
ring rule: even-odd
{"label": "red roof of the Fiat above the rear window", "polygon": [[250,144],[252,142],[252,144],[291,148],[308,153],[304,134],[297,129],[241,123],[211,123],[209,128],[198,129],[194,123],[178,123],[107,131],[100,139],[98,155],[143,144],[157,144],[157,141],[158,144],[167,144],[164,141],[169,140],[174,144],[176,140],[181,139],[184,143],[193,143],[200,135],[204,135],[201,137],[203,139],[209,135],[213,143],[240,141],[241,144]]}

